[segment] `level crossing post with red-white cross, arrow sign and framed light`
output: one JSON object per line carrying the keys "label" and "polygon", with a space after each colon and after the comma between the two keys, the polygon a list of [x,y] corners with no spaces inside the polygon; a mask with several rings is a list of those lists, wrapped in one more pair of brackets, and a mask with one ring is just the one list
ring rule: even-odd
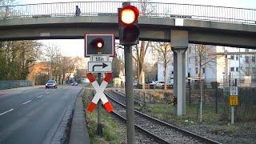
{"label": "level crossing post with red-white cross, arrow sign and framed light", "polygon": [[[106,108],[108,112],[111,112],[113,106],[106,98],[103,93],[106,85],[110,82],[112,77],[112,65],[110,62],[110,57],[114,57],[114,34],[88,34],[85,33],[85,57],[90,57],[90,62],[88,62],[88,72],[86,74],[89,78],[90,83],[94,87],[95,95],[87,107],[87,110],[91,113],[97,106],[98,111],[98,124],[97,124],[97,134],[102,136],[102,123],[101,123],[101,106]],[[94,78],[93,73],[98,74],[98,82]],[[104,80],[102,81],[102,73],[106,73]],[[99,85],[100,84],[100,85]],[[98,102],[98,101],[102,101]]]}

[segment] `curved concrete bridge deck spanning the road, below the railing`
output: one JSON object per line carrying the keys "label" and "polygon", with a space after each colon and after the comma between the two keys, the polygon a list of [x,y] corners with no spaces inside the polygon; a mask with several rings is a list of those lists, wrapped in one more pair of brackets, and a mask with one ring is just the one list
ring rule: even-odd
{"label": "curved concrete bridge deck spanning the road, below the railing", "polygon": [[[117,22],[114,16],[2,20],[0,41],[77,39],[85,32],[111,32],[118,38]],[[175,26],[175,19],[140,18],[139,27],[141,40],[170,42],[171,30],[186,30],[190,43],[256,48],[256,26],[187,19]]]}

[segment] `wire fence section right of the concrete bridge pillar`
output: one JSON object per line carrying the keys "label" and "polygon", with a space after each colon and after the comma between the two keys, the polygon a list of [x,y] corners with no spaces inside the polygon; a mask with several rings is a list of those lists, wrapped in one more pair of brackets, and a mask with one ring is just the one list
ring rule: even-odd
{"label": "wire fence section right of the concrete bridge pillar", "polygon": [[[255,80],[233,78],[229,80],[208,79],[202,81],[203,106],[211,106],[214,114],[220,114],[221,120],[230,120],[230,86],[238,86],[238,106],[234,106],[235,121],[254,121],[256,113],[256,86]],[[200,103],[200,82],[191,81],[186,85],[186,102],[189,105]]]}

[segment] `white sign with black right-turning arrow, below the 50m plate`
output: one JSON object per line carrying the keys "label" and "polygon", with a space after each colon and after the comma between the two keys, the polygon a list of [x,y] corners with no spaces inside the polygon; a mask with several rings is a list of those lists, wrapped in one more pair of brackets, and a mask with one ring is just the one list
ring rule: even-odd
{"label": "white sign with black right-turning arrow, below the 50m plate", "polygon": [[111,62],[88,62],[88,72],[110,73],[112,72]]}

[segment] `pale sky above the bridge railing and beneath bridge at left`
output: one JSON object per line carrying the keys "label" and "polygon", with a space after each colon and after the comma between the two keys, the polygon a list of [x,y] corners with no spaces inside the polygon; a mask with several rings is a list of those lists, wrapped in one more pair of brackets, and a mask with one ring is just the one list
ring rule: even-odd
{"label": "pale sky above the bridge railing and beneath bridge at left", "polygon": [[[120,0],[117,0],[120,1]],[[121,0],[123,1],[123,0]],[[135,1],[135,0],[134,0]],[[51,2],[79,2],[79,0],[23,0],[18,1],[18,4],[30,4],[30,3],[51,3]],[[85,1],[81,1],[85,2]],[[92,2],[88,1],[88,2]],[[150,2],[171,2],[171,3],[187,3],[187,4],[199,4],[199,5],[211,5],[211,6],[230,6],[230,7],[242,7],[256,9],[256,0],[157,0]],[[57,45],[62,54],[67,56],[79,56],[84,55],[84,40],[83,39],[70,39],[70,40],[41,40],[46,45]]]}

